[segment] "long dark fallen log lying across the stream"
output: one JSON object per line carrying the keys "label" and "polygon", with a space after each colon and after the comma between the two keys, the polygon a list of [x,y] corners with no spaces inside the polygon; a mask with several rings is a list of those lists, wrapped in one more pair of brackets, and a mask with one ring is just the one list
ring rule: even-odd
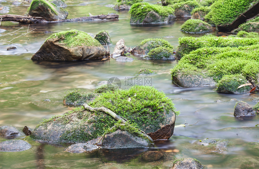
{"label": "long dark fallen log lying across the stream", "polygon": [[0,15],[2,21],[14,21],[20,23],[55,23],[55,22],[76,22],[76,21],[89,21],[89,20],[109,20],[109,19],[118,19],[119,15],[117,14],[108,14],[108,15],[95,15],[89,17],[77,17],[72,19],[65,19],[65,20],[54,20],[54,21],[47,21],[42,17],[28,17],[28,16],[21,16],[21,15],[12,15],[12,14],[5,14]]}

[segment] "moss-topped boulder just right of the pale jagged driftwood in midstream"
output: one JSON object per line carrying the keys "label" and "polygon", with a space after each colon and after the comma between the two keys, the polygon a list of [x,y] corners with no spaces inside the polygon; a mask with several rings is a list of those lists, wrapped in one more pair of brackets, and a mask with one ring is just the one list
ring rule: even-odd
{"label": "moss-topped boulder just right of the pale jagged driftwood in midstream", "polygon": [[132,54],[152,59],[175,59],[176,52],[167,40],[151,38],[140,42],[132,50]]}

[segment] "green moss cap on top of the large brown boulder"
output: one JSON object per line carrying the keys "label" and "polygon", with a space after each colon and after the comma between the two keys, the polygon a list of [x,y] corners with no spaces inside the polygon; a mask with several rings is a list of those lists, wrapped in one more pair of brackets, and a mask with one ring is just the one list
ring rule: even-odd
{"label": "green moss cap on top of the large brown boulder", "polygon": [[67,47],[75,46],[102,46],[96,39],[92,38],[89,34],[79,30],[67,30],[59,33],[54,33],[48,39],[61,38],[59,43],[65,44]]}

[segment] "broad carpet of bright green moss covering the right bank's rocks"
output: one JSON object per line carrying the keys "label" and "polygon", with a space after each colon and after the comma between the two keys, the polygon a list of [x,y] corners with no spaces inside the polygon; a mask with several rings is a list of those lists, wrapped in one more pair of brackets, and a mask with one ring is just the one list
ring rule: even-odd
{"label": "broad carpet of bright green moss covering the right bank's rocks", "polygon": [[[245,83],[257,85],[259,60],[256,49],[259,37],[254,33],[246,34],[245,38],[240,37],[243,34],[238,34],[238,37],[209,35],[179,38],[176,56],[181,60],[171,71],[173,82],[179,85],[179,82],[186,81],[186,77],[208,77],[217,83],[218,92],[249,92],[250,86],[238,87]],[[202,81],[200,78],[193,80],[196,81],[193,84]]]}

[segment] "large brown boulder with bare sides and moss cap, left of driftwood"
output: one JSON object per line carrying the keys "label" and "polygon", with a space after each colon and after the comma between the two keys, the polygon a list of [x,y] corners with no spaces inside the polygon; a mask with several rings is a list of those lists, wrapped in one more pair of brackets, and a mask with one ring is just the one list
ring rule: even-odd
{"label": "large brown boulder with bare sides and moss cap, left of driftwood", "polygon": [[103,58],[105,53],[105,48],[89,34],[68,30],[48,37],[32,60],[98,59]]}

